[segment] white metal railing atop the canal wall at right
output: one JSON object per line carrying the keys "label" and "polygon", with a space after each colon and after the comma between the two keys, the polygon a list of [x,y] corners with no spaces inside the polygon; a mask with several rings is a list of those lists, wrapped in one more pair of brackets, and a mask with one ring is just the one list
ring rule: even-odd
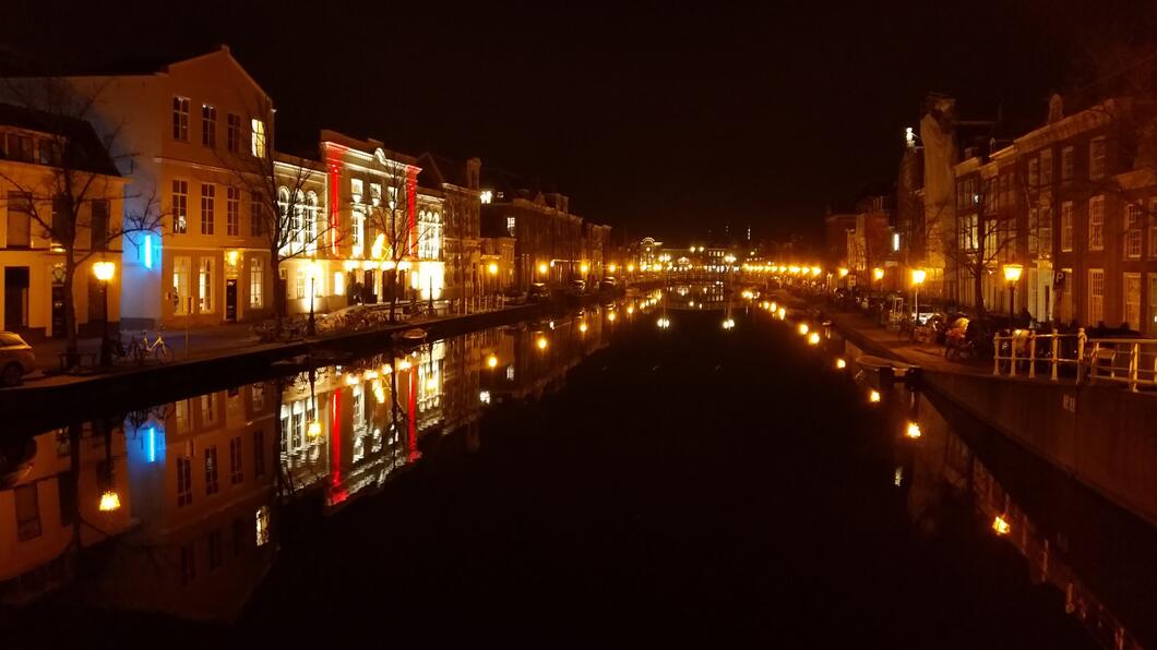
{"label": "white metal railing atop the canal wall at right", "polygon": [[[1062,346],[1073,339],[1075,345]],[[1047,353],[1042,346],[1048,346]],[[1157,386],[1157,339],[1096,338],[1085,335],[1083,327],[1076,334],[1059,334],[1053,330],[1040,334],[1029,330],[1016,330],[1011,334],[993,337],[993,375],[1001,376],[1001,362],[1008,362],[1008,376],[1017,376],[1017,364],[1027,364],[1027,377],[1037,377],[1037,365],[1047,363],[1049,379],[1059,379],[1059,368],[1076,365],[1076,382],[1110,382],[1123,384],[1130,391],[1138,387]]]}

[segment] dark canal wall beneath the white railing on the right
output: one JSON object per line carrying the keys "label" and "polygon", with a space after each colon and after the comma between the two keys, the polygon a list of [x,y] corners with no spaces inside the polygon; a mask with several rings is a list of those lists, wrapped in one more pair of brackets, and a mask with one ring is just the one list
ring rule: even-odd
{"label": "dark canal wall beneath the white railing on the right", "polygon": [[[906,361],[855,330],[841,333],[869,354]],[[929,368],[919,387],[1157,525],[1157,396]]]}

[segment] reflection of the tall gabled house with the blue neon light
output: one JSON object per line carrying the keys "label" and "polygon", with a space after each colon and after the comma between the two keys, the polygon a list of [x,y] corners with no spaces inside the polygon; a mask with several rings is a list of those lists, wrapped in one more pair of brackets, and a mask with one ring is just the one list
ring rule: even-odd
{"label": "reflection of the tall gabled house with the blue neon light", "polygon": [[272,384],[154,409],[127,444],[132,516],[98,601],[191,618],[235,615],[273,560]]}

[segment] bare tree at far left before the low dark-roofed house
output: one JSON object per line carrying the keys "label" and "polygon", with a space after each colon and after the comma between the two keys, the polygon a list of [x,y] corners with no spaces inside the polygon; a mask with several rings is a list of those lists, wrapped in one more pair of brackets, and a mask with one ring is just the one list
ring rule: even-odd
{"label": "bare tree at far left before the low dark-roofed house", "polygon": [[[137,236],[160,235],[160,201],[155,187],[126,195],[126,182],[119,178],[118,168],[127,167],[133,154],[121,150],[120,127],[98,134],[88,121],[96,118],[94,105],[100,89],[82,95],[54,79],[7,80],[7,88],[27,111],[24,117],[34,125],[30,130],[45,138],[39,139],[36,153],[29,136],[27,155],[17,157],[28,162],[35,158],[42,165],[37,172],[9,173],[0,167],[0,179],[15,189],[0,197],[0,201],[7,202],[9,210],[27,214],[52,250],[64,256],[66,357],[69,364],[75,364],[73,287],[78,268],[94,257],[119,256],[118,244],[124,239],[135,244]],[[115,215],[112,206],[117,204],[137,207]],[[108,323],[102,326],[108,327]]]}

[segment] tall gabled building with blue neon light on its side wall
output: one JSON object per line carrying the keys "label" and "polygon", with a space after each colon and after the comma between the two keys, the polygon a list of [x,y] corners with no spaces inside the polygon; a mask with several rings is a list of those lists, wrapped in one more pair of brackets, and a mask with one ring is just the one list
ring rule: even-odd
{"label": "tall gabled building with blue neon light on its side wall", "polygon": [[[272,147],[273,102],[229,49],[59,81],[94,97],[94,128],[116,131],[119,152],[133,153],[118,158],[130,180],[125,214],[163,215],[160,231],[124,242],[123,322],[180,327],[270,315],[268,246],[234,170]],[[227,256],[236,260],[228,268]]]}

